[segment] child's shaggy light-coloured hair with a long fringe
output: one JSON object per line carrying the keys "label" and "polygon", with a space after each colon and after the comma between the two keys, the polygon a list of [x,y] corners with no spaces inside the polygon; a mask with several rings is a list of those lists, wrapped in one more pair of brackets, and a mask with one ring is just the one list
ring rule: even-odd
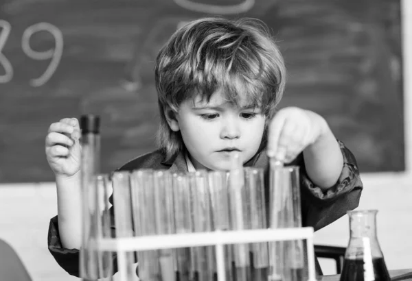
{"label": "child's shaggy light-coloured hair with a long fringe", "polygon": [[183,101],[197,95],[209,101],[222,88],[233,103],[247,95],[267,120],[283,95],[286,69],[262,21],[204,18],[178,29],[159,51],[155,82],[161,117],[157,142],[170,160],[185,146],[180,132],[172,131],[166,121],[167,106],[177,112]]}

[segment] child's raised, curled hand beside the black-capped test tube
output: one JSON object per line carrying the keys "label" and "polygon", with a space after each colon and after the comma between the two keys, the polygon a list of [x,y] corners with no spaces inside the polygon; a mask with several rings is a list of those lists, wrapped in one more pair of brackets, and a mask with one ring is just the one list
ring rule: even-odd
{"label": "child's raised, curled hand beside the black-capped test tube", "polygon": [[80,171],[80,126],[76,118],[52,123],[46,136],[46,156],[56,177],[71,177]]}

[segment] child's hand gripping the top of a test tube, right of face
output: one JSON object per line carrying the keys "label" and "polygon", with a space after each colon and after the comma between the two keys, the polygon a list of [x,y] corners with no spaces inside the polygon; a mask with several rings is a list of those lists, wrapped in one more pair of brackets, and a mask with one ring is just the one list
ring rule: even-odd
{"label": "child's hand gripping the top of a test tube, right of face", "polygon": [[328,124],[319,114],[295,107],[283,108],[268,125],[268,156],[291,162],[327,128]]}

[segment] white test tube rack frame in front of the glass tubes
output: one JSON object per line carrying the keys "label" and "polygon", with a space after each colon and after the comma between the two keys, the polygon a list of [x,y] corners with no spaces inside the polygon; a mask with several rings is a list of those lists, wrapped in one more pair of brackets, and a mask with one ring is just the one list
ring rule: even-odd
{"label": "white test tube rack frame in front of the glass tubes", "polygon": [[308,254],[308,281],[316,281],[314,272],[313,234],[314,230],[312,227],[305,227],[196,232],[187,234],[121,237],[115,239],[106,238],[95,240],[95,249],[98,251],[117,252],[119,281],[128,281],[126,275],[127,252],[144,251],[150,249],[214,246],[216,247],[218,281],[226,281],[224,245],[306,239],[306,251]]}

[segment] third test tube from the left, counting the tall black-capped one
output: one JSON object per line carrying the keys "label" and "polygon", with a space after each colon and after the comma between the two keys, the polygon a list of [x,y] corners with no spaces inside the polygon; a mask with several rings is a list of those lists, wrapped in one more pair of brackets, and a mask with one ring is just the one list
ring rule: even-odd
{"label": "third test tube from the left, counting the tall black-capped one", "polygon": [[[115,213],[116,237],[132,237],[133,236],[133,209],[130,193],[130,173],[128,171],[115,171],[112,175],[113,184],[113,208]],[[117,251],[117,256],[121,256],[126,262],[124,268],[119,264],[120,276],[124,276],[127,280],[135,278],[135,263],[134,252]],[[121,278],[122,279],[122,278]]]}

